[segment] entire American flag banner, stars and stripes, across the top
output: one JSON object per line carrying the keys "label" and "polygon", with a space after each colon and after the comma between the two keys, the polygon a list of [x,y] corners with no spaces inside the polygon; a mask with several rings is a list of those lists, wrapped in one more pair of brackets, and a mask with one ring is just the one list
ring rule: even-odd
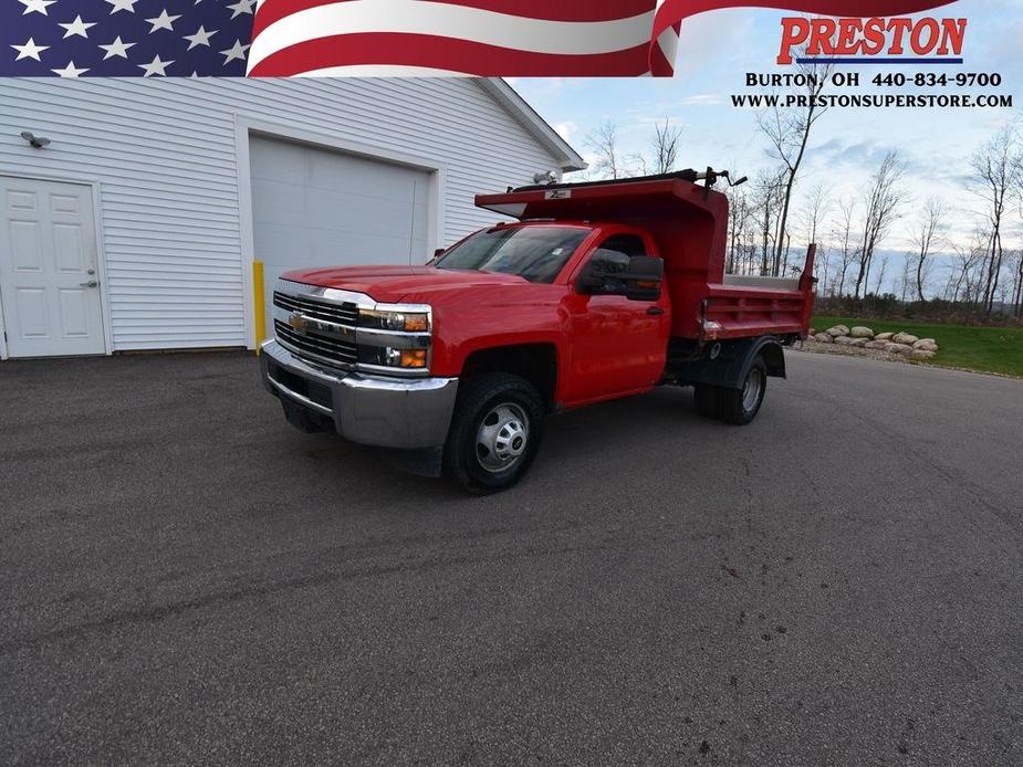
{"label": "entire American flag banner, stars and stripes, across the top", "polygon": [[949,0],[0,0],[0,75],[671,75],[722,8],[898,15]]}

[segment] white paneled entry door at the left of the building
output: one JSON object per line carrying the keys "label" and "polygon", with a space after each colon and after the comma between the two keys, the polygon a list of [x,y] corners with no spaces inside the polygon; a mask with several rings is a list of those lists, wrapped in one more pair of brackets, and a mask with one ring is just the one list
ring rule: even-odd
{"label": "white paneled entry door at the left of the building", "polygon": [[92,188],[0,176],[0,308],[11,357],[106,351]]}

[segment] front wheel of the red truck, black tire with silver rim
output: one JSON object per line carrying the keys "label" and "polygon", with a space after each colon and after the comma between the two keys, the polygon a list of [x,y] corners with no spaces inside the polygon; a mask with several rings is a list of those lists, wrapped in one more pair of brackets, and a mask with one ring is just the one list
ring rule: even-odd
{"label": "front wheel of the red truck, black tire with silver rim", "polygon": [[468,379],[445,443],[445,475],[477,495],[511,487],[536,456],[543,417],[540,392],[524,378],[488,372]]}

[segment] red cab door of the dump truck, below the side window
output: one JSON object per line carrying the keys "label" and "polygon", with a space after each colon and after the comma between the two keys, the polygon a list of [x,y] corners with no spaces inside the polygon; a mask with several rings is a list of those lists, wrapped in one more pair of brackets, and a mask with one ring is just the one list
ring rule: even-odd
{"label": "red cab door of the dump truck, below the side window", "polygon": [[[576,277],[594,259],[608,270],[634,255],[658,258],[638,233],[608,234],[583,259]],[[656,301],[630,301],[610,281],[606,291],[582,294],[575,284],[567,300],[571,370],[565,402],[584,403],[641,391],[664,375],[670,317],[667,287]]]}

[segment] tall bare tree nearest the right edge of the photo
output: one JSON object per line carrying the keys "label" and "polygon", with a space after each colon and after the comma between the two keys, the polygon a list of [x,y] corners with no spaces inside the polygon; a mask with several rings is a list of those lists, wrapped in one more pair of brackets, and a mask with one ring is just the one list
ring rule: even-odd
{"label": "tall bare tree nearest the right edge of the photo", "polygon": [[1020,183],[1021,159],[1015,129],[1006,126],[999,130],[973,156],[973,170],[979,180],[977,193],[985,206],[990,242],[987,248],[984,290],[981,309],[990,315],[994,308],[999,279],[1005,250],[1002,245],[1002,229],[1010,196]]}

